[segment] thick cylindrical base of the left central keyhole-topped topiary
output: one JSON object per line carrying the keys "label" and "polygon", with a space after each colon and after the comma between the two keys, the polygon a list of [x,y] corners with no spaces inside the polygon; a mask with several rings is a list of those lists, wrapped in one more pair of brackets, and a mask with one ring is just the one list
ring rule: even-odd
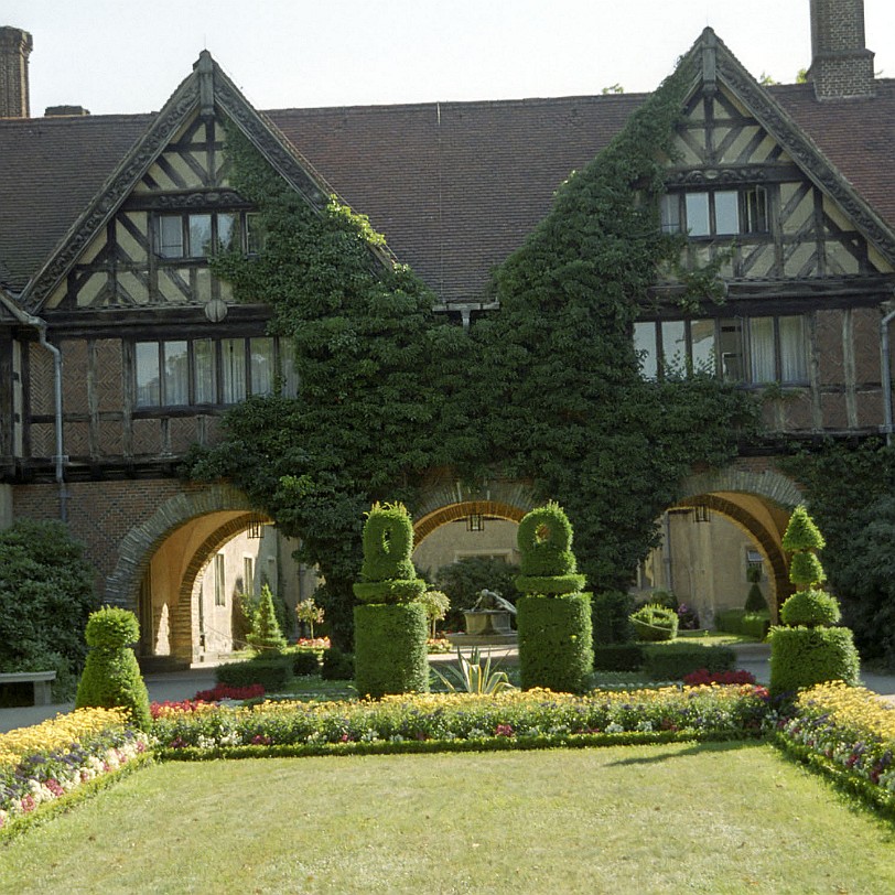
{"label": "thick cylindrical base of the left central keyhole-topped topiary", "polygon": [[429,691],[425,606],[355,606],[355,686],[364,697]]}

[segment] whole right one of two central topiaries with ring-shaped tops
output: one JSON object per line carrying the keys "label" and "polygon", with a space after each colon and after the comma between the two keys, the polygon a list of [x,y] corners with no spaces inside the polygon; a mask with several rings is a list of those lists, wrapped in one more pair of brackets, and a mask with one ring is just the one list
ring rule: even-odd
{"label": "whole right one of two central topiaries with ring-shaped tops", "polygon": [[[517,532],[522,573],[516,587],[522,689],[580,692],[593,668],[589,594],[579,593],[572,525],[559,504],[531,510]],[[525,606],[525,608],[524,608]]]}

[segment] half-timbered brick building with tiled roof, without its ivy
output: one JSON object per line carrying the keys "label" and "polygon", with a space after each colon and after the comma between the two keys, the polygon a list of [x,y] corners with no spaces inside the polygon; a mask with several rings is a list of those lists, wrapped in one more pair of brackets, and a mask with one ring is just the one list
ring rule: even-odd
{"label": "half-timbered brick building with tiled roof, without its ivy", "polygon": [[[726,519],[723,549],[761,559],[774,605],[799,498],[777,445],[892,432],[895,82],[873,76],[861,0],[812,0],[810,25],[806,84],[759,84],[710,29],[683,57],[691,85],[661,223],[687,235],[684,262],[719,260],[725,296],[684,311],[680,284],[659,276],[632,333],[644,376],[708,369],[762,401],[762,443],[694,473],[670,509]],[[101,596],[139,613],[144,656],[215,657],[233,647],[236,593],[263,574],[294,605],[313,586],[295,544],[269,526],[249,537],[270,520],[242,495],[176,474],[227,407],[295,387],[269,309],[234,302],[209,270],[220,248],[251,255],[263,238],[230,186],[227,128],[312,207],[336,193],[368,215],[440,310],[474,326],[497,311],[489,271],[644,97],[260,112],[203,52],[159,112],[31,117],[31,46],[0,29],[0,526],[66,520]],[[513,522],[529,508],[519,483],[487,490],[433,473],[420,557],[511,551],[511,538],[482,546],[464,531],[427,553],[456,519]],[[687,591],[697,527],[682,540],[673,516],[648,581],[711,615],[738,585]]]}

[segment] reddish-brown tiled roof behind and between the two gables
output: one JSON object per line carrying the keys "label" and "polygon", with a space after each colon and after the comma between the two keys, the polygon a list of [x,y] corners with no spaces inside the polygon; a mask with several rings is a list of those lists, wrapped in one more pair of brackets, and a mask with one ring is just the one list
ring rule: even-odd
{"label": "reddish-brown tiled roof behind and between the two gables", "polygon": [[[869,100],[774,97],[895,226],[895,80]],[[489,271],[643,101],[608,95],[266,115],[443,301],[477,301]],[[19,291],[152,116],[0,121],[0,271]]]}

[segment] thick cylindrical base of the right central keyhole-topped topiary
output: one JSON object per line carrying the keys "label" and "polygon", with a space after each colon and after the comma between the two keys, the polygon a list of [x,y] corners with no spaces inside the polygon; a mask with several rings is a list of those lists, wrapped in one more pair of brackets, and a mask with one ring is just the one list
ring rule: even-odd
{"label": "thick cylindrical base of the right central keyhole-topped topiary", "polygon": [[546,687],[579,693],[593,668],[591,601],[587,594],[520,596],[519,672],[524,690]]}

